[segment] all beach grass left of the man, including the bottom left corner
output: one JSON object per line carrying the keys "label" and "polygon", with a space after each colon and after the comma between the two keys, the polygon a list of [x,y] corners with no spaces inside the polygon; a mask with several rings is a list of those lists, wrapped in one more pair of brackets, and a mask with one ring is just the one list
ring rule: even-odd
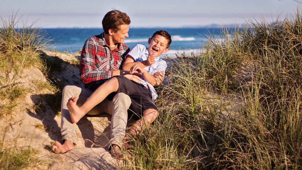
{"label": "all beach grass left of the man, including the bottom left corner", "polygon": [[[23,77],[22,73],[25,69],[47,69],[45,61],[40,57],[40,50],[51,41],[44,38],[46,33],[41,32],[40,28],[35,26],[35,22],[28,25],[22,18],[16,18],[16,15],[17,13],[14,13],[0,20],[0,119],[8,119],[8,121],[9,117],[14,117],[13,114],[18,114],[16,109],[21,100],[34,91],[21,82],[26,79],[26,75]],[[21,27],[18,25],[20,23]],[[49,82],[44,84],[37,82],[35,87],[56,91],[56,87]],[[5,124],[3,127],[6,127]],[[37,125],[37,128],[42,127]],[[0,133],[0,169],[41,167],[40,165],[45,161],[38,158],[37,150],[32,149],[31,146],[18,146],[18,136],[12,141],[5,140],[5,134],[6,128]]]}

